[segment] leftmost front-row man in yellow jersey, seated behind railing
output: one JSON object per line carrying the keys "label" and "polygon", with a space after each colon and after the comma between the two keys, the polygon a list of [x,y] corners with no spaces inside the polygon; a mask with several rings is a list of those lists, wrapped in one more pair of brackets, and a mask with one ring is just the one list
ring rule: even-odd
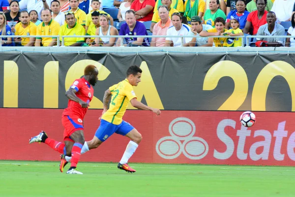
{"label": "leftmost front-row man in yellow jersey, seated behind railing", "polygon": [[[37,26],[29,21],[29,13],[27,11],[20,12],[20,23],[14,27],[15,35],[36,35]],[[34,46],[34,37],[17,37],[14,39],[17,46]]]}

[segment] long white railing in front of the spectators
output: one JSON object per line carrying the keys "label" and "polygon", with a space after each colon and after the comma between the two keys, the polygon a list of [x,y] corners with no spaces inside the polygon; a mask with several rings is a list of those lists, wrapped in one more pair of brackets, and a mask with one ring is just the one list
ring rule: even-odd
{"label": "long white railing in front of the spectators", "polygon": [[[121,38],[120,40],[120,45],[123,46],[124,43],[124,39],[125,37],[143,37],[143,38],[148,38],[148,37],[181,37],[181,45],[183,46],[183,39],[182,38],[187,38],[187,37],[202,37],[199,35],[103,35],[103,36],[97,36],[97,35],[63,35],[63,36],[59,36],[59,35],[0,35],[0,40],[1,38],[5,38],[5,37],[12,37],[12,38],[16,38],[16,37],[54,37],[57,38],[57,46],[64,46],[64,38],[66,37],[84,37],[84,38],[90,38],[90,37],[100,37],[100,38],[104,38],[104,37],[116,37],[116,38]],[[226,37],[229,38],[229,36],[207,36],[207,37],[217,37],[217,38],[222,38],[222,37]],[[246,38],[246,46],[249,46],[249,39],[250,38],[269,38],[269,37],[279,37],[279,38],[295,38],[294,35],[242,35],[242,36],[230,36],[232,38],[242,38],[241,42],[242,42],[242,46],[244,46],[244,38]],[[60,43],[61,42],[61,43]],[[1,42],[0,42],[0,46],[1,46]]]}

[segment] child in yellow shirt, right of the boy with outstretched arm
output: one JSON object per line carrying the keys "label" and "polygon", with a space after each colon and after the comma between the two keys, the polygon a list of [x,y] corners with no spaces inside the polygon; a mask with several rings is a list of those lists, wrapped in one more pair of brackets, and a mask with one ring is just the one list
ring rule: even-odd
{"label": "child in yellow shirt, right of the boy with outstretched arm", "polygon": [[[226,32],[227,35],[229,35],[229,36],[241,36],[241,35],[244,35],[242,30],[239,29],[238,18],[232,18],[230,20],[230,23],[231,23],[231,29]],[[242,38],[241,37],[236,37],[236,38],[229,37],[224,42],[223,46],[225,46],[225,47],[242,46]]]}

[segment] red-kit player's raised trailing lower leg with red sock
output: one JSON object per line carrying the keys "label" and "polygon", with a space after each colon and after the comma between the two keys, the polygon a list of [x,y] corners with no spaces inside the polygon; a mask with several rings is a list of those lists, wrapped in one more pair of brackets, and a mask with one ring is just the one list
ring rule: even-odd
{"label": "red-kit player's raised trailing lower leg with red sock", "polygon": [[50,146],[53,150],[58,151],[61,154],[64,152],[64,143],[49,138],[47,133],[44,131],[40,132],[38,135],[32,137],[29,140],[29,144],[33,142],[43,142]]}

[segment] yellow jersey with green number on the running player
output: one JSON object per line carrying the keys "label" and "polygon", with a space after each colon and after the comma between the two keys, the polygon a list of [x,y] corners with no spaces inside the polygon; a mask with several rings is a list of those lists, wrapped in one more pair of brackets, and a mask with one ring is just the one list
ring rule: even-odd
{"label": "yellow jersey with green number on the running player", "polygon": [[113,85],[109,90],[112,93],[110,108],[102,115],[101,119],[114,125],[119,125],[122,122],[122,117],[127,109],[129,101],[137,97],[128,79]]}

